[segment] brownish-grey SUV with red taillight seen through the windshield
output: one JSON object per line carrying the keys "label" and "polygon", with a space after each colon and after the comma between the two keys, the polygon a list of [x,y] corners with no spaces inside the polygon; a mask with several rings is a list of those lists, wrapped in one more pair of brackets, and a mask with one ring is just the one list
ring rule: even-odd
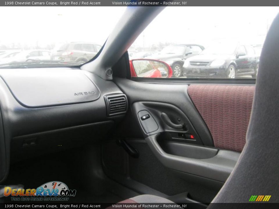
{"label": "brownish-grey SUV with red taillight seen through the windshield", "polygon": [[51,55],[51,60],[62,60],[65,62],[85,63],[91,60],[100,51],[101,46],[86,42],[71,42],[63,44]]}

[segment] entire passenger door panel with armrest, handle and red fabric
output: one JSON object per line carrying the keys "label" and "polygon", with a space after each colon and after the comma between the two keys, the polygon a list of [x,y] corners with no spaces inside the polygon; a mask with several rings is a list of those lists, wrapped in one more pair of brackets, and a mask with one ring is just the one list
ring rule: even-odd
{"label": "entire passenger door panel with armrest, handle and red fabric", "polygon": [[[232,172],[245,144],[243,133],[248,125],[254,86],[159,84],[123,78],[115,78],[114,81],[126,94],[130,109],[120,126],[122,128],[116,130],[112,140],[103,146],[106,174],[139,193],[158,195],[157,192],[161,192],[163,194],[160,196],[172,199],[187,192],[188,201],[208,202]],[[206,107],[208,109],[204,110]],[[162,113],[173,124],[186,125],[187,128],[169,126]],[[142,120],[141,117],[146,114],[149,114],[149,118]],[[233,114],[244,116],[232,117]],[[208,122],[210,119],[213,122]],[[143,123],[148,120],[153,120],[155,124],[152,131],[144,129]],[[222,121],[231,124],[233,134],[229,131],[216,138],[226,127]],[[236,125],[237,122],[240,125]],[[123,134],[124,129],[130,131]],[[183,134],[192,135],[194,140]],[[117,146],[115,138],[124,139],[137,149],[139,158],[130,156]],[[108,155],[112,149],[113,156],[121,156],[121,159]],[[121,169],[112,164],[121,164]],[[160,182],[156,178],[160,178]],[[180,186],[174,189],[171,183],[162,184],[166,181],[179,181],[184,189]],[[209,190],[203,191],[205,187]],[[201,192],[206,194],[199,197],[198,193]]]}

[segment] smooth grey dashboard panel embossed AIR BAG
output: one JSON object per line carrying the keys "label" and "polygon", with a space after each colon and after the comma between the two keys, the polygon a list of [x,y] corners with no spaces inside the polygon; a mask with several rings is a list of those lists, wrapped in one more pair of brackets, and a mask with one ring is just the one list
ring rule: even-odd
{"label": "smooth grey dashboard panel embossed AIR BAG", "polygon": [[25,107],[91,102],[100,97],[95,84],[80,70],[9,69],[0,73],[15,99]]}

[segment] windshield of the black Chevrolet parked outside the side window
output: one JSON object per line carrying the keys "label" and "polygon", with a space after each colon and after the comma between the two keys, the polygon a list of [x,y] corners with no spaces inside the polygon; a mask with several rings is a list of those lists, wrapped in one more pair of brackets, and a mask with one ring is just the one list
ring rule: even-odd
{"label": "windshield of the black Chevrolet parked outside the side window", "polygon": [[237,45],[226,45],[226,44],[217,44],[212,45],[206,48],[201,52],[201,54],[204,55],[233,55],[235,53],[235,50],[237,48]]}

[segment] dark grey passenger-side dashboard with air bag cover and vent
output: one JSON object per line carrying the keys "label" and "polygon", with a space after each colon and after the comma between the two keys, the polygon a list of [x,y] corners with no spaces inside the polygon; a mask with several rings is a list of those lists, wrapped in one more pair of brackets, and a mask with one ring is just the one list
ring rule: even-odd
{"label": "dark grey passenger-side dashboard with air bag cover and vent", "polygon": [[106,97],[117,101],[123,92],[77,68],[1,69],[0,77],[0,181],[24,153],[39,156],[84,138],[100,140],[128,108],[126,101],[119,114],[108,114]]}

